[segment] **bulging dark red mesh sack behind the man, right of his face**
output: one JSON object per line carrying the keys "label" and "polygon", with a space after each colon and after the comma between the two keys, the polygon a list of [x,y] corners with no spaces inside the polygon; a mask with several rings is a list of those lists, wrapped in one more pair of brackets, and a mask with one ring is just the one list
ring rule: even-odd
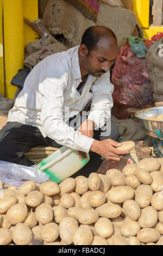
{"label": "bulging dark red mesh sack behind the man, right of his face", "polygon": [[[152,41],[145,43],[147,48],[152,44]],[[112,115],[116,118],[131,118],[139,109],[154,105],[152,84],[147,74],[147,61],[145,58],[136,57],[130,45],[122,47],[118,52],[111,83],[115,87],[112,95]]]}

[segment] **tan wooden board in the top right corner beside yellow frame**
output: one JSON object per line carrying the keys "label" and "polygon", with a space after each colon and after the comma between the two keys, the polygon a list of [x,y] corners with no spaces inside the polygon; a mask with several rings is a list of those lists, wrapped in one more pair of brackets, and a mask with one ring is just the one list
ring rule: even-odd
{"label": "tan wooden board in the top right corner beside yellow frame", "polygon": [[153,25],[157,27],[162,25],[162,4],[163,0],[154,0],[152,8]]}

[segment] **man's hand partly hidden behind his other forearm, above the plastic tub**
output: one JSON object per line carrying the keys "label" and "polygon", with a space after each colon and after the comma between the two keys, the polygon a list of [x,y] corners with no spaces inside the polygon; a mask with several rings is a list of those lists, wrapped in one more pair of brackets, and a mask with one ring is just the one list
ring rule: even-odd
{"label": "man's hand partly hidden behind his other forearm, above the plastic tub", "polygon": [[[92,120],[86,120],[80,125],[78,131],[81,132],[82,135],[93,138],[94,128],[95,128],[95,122]],[[82,160],[82,151],[78,151],[78,155],[79,155],[79,159]],[[85,152],[83,152],[83,157],[85,160],[87,160],[87,156]]]}

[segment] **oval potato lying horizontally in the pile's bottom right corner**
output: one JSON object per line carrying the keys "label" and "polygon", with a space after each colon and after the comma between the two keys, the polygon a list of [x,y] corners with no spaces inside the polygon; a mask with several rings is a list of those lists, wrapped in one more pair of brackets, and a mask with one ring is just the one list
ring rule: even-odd
{"label": "oval potato lying horizontally in the pile's bottom right corner", "polygon": [[137,233],[137,238],[143,243],[152,243],[160,239],[161,235],[158,230],[154,228],[142,228]]}

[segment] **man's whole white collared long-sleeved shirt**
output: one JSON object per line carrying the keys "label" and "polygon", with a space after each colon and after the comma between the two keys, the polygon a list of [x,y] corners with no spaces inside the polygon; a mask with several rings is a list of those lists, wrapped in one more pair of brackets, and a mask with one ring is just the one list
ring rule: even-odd
{"label": "man's whole white collared long-sleeved shirt", "polygon": [[94,139],[74,131],[65,120],[81,112],[92,100],[88,119],[95,121],[96,129],[102,127],[110,121],[114,86],[110,72],[100,78],[89,75],[79,94],[77,87],[82,78],[78,48],[52,54],[33,68],[10,109],[8,121],[36,126],[44,137],[88,153]]}

